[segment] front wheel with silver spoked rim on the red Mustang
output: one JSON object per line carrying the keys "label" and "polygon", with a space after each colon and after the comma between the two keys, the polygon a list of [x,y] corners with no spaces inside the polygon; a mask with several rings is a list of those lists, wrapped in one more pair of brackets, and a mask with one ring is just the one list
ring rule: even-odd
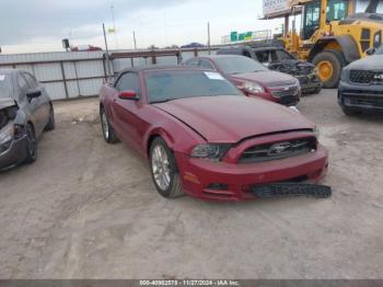
{"label": "front wheel with silver spoked rim on the red Mustang", "polygon": [[150,170],[154,186],[160,195],[165,198],[176,198],[184,195],[174,154],[160,137],[154,139],[150,146]]}

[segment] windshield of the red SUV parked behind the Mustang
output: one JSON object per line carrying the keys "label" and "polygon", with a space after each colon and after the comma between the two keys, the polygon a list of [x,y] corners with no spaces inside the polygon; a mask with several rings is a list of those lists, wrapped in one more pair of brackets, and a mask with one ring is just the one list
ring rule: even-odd
{"label": "windshield of the red SUV parked behind the Mustang", "polygon": [[267,71],[260,62],[247,57],[216,58],[214,62],[225,74]]}

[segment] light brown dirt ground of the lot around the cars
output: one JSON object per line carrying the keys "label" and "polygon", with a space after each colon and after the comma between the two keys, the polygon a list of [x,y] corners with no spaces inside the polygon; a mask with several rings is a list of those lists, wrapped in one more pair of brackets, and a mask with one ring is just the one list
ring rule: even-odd
{"label": "light brown dirt ground of the lot around the cars", "polygon": [[0,278],[383,278],[383,116],[303,97],[330,151],[330,199],[166,200],[106,145],[97,100],[56,103],[39,158],[0,174]]}

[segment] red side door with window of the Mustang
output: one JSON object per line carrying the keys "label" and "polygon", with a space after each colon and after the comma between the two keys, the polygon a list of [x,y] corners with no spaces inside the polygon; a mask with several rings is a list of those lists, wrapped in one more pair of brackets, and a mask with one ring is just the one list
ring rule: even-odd
{"label": "red side door with window of the Mustang", "polygon": [[[116,94],[112,103],[113,124],[120,139],[137,150],[140,150],[140,135],[138,133],[138,113],[142,107],[140,77],[137,72],[125,72],[115,84]],[[121,100],[118,93],[135,91],[138,101]]]}

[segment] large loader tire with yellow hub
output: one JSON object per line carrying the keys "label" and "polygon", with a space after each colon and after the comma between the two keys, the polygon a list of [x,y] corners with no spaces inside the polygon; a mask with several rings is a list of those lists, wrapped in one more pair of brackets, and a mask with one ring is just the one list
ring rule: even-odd
{"label": "large loader tire with yellow hub", "polygon": [[323,82],[323,88],[335,89],[338,87],[341,70],[347,65],[341,51],[324,50],[314,57],[313,64],[318,70],[318,77]]}

